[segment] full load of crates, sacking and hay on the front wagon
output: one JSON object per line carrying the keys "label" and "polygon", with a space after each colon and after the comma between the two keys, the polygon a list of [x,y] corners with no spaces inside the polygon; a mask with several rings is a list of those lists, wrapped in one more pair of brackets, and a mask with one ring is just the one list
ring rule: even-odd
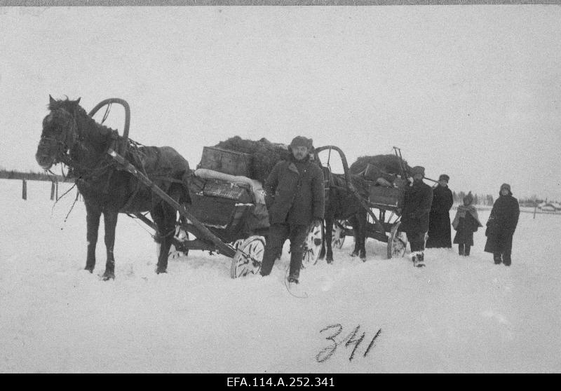
{"label": "full load of crates, sacking and hay on the front wagon", "polygon": [[268,228],[262,184],[274,165],[289,156],[288,146],[265,138],[252,141],[236,136],[205,146],[201,163],[189,179],[198,218],[218,230],[229,227],[227,237]]}

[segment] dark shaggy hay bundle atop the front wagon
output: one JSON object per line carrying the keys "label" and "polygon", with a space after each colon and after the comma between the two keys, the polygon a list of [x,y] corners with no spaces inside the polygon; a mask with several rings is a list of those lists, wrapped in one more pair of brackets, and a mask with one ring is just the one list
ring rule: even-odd
{"label": "dark shaggy hay bundle atop the front wagon", "polygon": [[229,149],[230,151],[248,153],[252,156],[252,170],[250,178],[264,183],[273,167],[280,160],[290,158],[288,146],[285,144],[273,143],[266,138],[258,141],[242,139],[234,136],[226,141],[215,145],[217,148]]}

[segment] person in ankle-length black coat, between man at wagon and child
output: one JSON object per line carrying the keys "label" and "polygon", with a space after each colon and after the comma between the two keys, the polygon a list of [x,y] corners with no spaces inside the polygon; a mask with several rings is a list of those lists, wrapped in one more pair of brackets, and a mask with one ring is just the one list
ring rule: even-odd
{"label": "person in ankle-length black coat, between man at wagon and child", "polygon": [[428,217],[427,248],[452,248],[450,209],[454,204],[454,198],[452,198],[452,191],[448,188],[448,181],[450,181],[450,177],[442,174],[438,178],[438,185],[433,188],[433,204]]}

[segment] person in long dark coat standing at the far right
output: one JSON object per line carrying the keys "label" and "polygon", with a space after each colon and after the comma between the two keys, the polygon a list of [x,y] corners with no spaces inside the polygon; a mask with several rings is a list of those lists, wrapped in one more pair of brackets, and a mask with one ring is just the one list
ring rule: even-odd
{"label": "person in long dark coat standing at the far right", "polygon": [[513,235],[518,225],[520,207],[518,200],[513,197],[511,185],[502,184],[499,198],[493,204],[489,220],[487,221],[487,243],[485,252],[493,254],[496,265],[501,262],[505,266],[511,266],[511,252],[513,247]]}

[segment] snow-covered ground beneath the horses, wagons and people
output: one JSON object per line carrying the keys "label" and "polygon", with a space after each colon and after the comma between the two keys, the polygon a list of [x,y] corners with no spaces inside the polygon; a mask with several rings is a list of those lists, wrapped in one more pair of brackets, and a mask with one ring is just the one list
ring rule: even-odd
{"label": "snow-covered ground beneath the horses, wagons and people", "polygon": [[81,201],[65,221],[76,191],[53,209],[50,183],[28,181],[27,201],[21,186],[0,180],[2,373],[561,371],[560,216],[520,215],[510,268],[483,229],[470,257],[428,249],[422,269],[372,239],[363,263],[347,238],[333,265],[302,270],[301,299],[286,251],[266,278],[231,280],[230,260],[203,252],[156,275],[151,236],[124,214],[103,282],[103,226],[90,275]]}

